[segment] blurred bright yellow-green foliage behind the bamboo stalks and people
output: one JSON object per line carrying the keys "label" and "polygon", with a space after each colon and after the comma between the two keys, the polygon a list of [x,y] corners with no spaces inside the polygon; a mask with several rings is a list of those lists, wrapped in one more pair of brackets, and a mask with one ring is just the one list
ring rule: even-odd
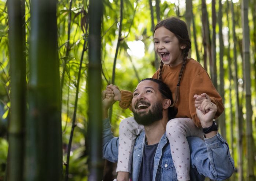
{"label": "blurred bright yellow-green foliage behind the bamboo stalks and people", "polygon": [[[177,1],[178,2],[178,1]],[[180,0],[179,6],[175,3],[172,3],[170,0],[161,0],[160,3],[160,17],[165,19],[170,16],[176,16],[177,8],[179,8],[180,18],[185,20],[185,1]],[[184,4],[182,4],[182,2]],[[209,3],[208,3],[209,2]],[[231,2],[231,1],[229,1]],[[0,1],[0,101],[5,106],[5,111],[11,112],[10,109],[10,75],[9,75],[9,57],[8,57],[8,17],[7,17],[7,7],[5,6],[6,1]],[[211,30],[211,2],[207,1],[207,12],[210,22]],[[217,3],[217,2],[216,2]],[[218,3],[217,3],[218,4]],[[101,61],[102,61],[102,90],[110,83],[112,78],[112,68],[113,60],[116,51],[117,37],[118,37],[118,22],[120,21],[120,1],[119,0],[103,0],[103,17],[102,17],[102,52],[101,52]],[[226,122],[227,122],[227,139],[230,141],[230,111],[236,112],[235,106],[233,110],[230,110],[229,102],[229,79],[228,79],[228,61],[227,61],[227,30],[230,31],[230,35],[233,34],[231,23],[230,27],[227,27],[227,17],[225,13],[226,9],[226,0],[222,1],[223,9],[223,40],[224,40],[224,88],[225,88],[225,107],[226,107]],[[252,4],[253,5],[253,4]],[[155,24],[156,13],[155,6],[154,16]],[[218,5],[216,5],[216,11],[218,12]],[[241,56],[241,40],[242,40],[242,28],[241,28],[241,1],[234,3],[235,11],[235,21],[236,21],[236,41],[237,41],[237,66],[238,66],[238,79],[239,82],[239,97],[241,105],[245,105],[244,99],[244,83],[243,83],[243,65],[242,65],[242,56]],[[122,40],[120,42],[119,53],[117,56],[116,64],[116,85],[121,90],[133,91],[138,84],[139,79],[151,77],[155,68],[154,63],[154,43],[153,43],[153,32],[151,31],[151,19],[150,19],[150,8],[148,0],[124,0],[124,15],[123,15],[123,27],[122,27]],[[70,38],[69,38],[69,54],[67,55],[67,41],[68,41],[68,17],[71,13],[71,29],[70,29]],[[196,25],[197,33],[197,49],[200,54],[200,63],[203,64],[203,40],[202,40],[202,4],[199,0],[193,0],[193,14]],[[231,14],[229,15],[229,18]],[[30,4],[26,0],[26,41],[29,42],[30,39]],[[230,18],[231,19],[231,18]],[[79,63],[83,51],[83,43],[87,41],[88,34],[86,33],[86,22],[88,22],[88,0],[72,0],[72,8],[69,11],[69,1],[59,0],[57,4],[57,26],[58,26],[58,47],[59,47],[59,58],[60,58],[60,77],[63,76],[63,70],[65,68],[64,74],[64,83],[63,83],[63,95],[62,95],[62,125],[63,125],[63,161],[66,162],[67,152],[65,151],[68,144],[70,130],[71,130],[71,120],[74,114],[75,106],[75,93],[76,89],[79,88],[79,99],[78,107],[76,113],[76,128],[72,142],[72,156],[70,157],[70,180],[72,181],[86,181],[88,176],[87,168],[87,148],[86,148],[86,139],[87,139],[87,110],[88,110],[88,95],[87,95],[87,65],[88,65],[88,50],[84,52],[83,64],[82,64],[82,75],[80,79],[80,86],[77,87],[78,80],[78,70]],[[231,21],[230,21],[231,22]],[[252,10],[249,10],[249,28],[253,30],[253,16]],[[216,27],[217,34],[220,31]],[[191,28],[191,34],[193,33],[193,28]],[[251,31],[251,74],[252,80],[255,79],[256,68],[255,68],[255,59],[253,55],[256,54],[253,49],[256,45],[253,42],[253,32]],[[233,42],[235,40],[230,36],[230,55],[231,55],[231,68],[234,72],[233,65]],[[192,42],[192,51],[191,57],[196,58],[195,53],[195,40],[191,37]],[[217,42],[217,65],[219,65],[218,60],[218,36],[216,39]],[[137,43],[137,44],[136,44]],[[134,49],[139,51],[137,53],[141,54],[140,56],[135,55]],[[29,50],[29,43],[26,44],[27,51]],[[144,46],[144,48],[143,48]],[[143,54],[144,52],[144,54]],[[218,69],[218,66],[217,66]],[[209,69],[208,69],[209,70]],[[219,69],[218,69],[219,70]],[[29,65],[27,65],[27,72],[29,71]],[[138,75],[136,75],[138,72]],[[219,75],[219,72],[217,72]],[[27,79],[29,80],[29,74]],[[234,75],[233,75],[234,76]],[[218,84],[219,84],[218,80]],[[29,81],[28,81],[29,83]],[[235,97],[234,91],[234,81],[231,81],[232,92],[231,96]],[[252,106],[253,106],[253,130],[256,129],[256,82],[252,81]],[[232,105],[235,105],[236,100],[231,99]],[[245,114],[246,110],[243,109]],[[0,111],[0,113],[2,113]],[[4,113],[3,113],[4,114]],[[1,115],[2,117],[3,115]],[[118,135],[118,125],[120,121],[125,117],[132,116],[130,110],[123,110],[119,107],[118,102],[113,105],[113,114],[112,114],[112,128],[114,135]],[[8,117],[7,117],[8,118]],[[237,130],[237,126],[233,125],[233,128]],[[5,133],[6,134],[6,133]],[[253,137],[256,139],[255,131]],[[7,143],[3,141],[5,138],[0,139],[0,150],[6,150],[3,152],[3,156],[0,154],[0,164],[4,163],[7,156]],[[237,135],[234,135],[234,159],[237,162]],[[2,149],[1,147],[4,147]],[[0,152],[2,153],[2,152]],[[244,155],[245,157],[245,155]],[[65,166],[63,167],[65,169]],[[246,168],[245,168],[246,169]],[[256,169],[256,168],[255,168]],[[2,170],[3,171],[3,170]],[[4,171],[3,171],[4,172]],[[3,172],[0,172],[0,180],[3,176]]]}

